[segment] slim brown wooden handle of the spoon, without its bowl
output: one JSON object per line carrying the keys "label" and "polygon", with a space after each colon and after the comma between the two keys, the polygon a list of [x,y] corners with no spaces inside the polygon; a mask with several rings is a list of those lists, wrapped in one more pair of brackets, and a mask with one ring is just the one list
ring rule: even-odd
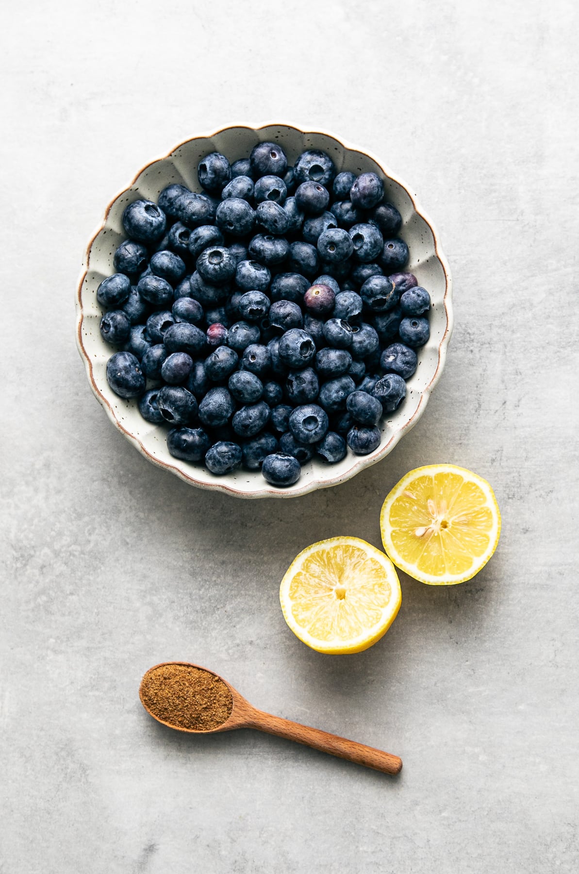
{"label": "slim brown wooden handle of the spoon, without its bowl", "polygon": [[402,759],[383,750],[376,750],[373,746],[358,744],[355,740],[340,738],[337,734],[321,732],[318,728],[310,728],[308,725],[300,725],[290,719],[282,719],[272,716],[264,711],[253,711],[252,728],[260,732],[276,734],[279,738],[294,740],[297,744],[305,744],[320,750],[321,753],[330,753],[339,759],[348,759],[357,765],[372,767],[383,773],[398,773],[402,768]]}

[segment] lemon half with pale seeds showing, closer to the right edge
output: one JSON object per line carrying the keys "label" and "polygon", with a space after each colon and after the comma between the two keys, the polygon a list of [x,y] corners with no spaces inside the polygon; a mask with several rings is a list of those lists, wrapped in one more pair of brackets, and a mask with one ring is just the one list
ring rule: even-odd
{"label": "lemon half with pale seeds showing, closer to the right edge", "polygon": [[463,583],[493,555],[500,510],[486,480],[452,464],[410,470],[383,503],[384,549],[395,565],[431,586]]}

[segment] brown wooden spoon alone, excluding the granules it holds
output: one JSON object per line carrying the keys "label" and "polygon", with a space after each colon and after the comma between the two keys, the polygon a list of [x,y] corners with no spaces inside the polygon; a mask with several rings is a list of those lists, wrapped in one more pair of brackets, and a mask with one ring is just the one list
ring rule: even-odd
{"label": "brown wooden spoon alone, excluding the granules it holds", "polygon": [[[148,681],[150,681],[150,675],[154,671],[164,667],[169,667],[169,665],[180,665],[185,668],[203,670],[216,677],[217,680],[221,681],[221,683],[224,683],[227,689],[231,692],[233,705],[230,716],[225,718],[225,721],[216,727],[199,731],[196,729],[185,728],[183,725],[174,725],[170,722],[166,722],[155,714],[154,709],[152,709],[145,701]],[[268,734],[275,734],[279,738],[294,740],[298,744],[312,746],[314,747],[314,750],[320,750],[321,753],[331,753],[334,756],[338,756],[340,759],[347,759],[348,761],[355,762],[357,765],[371,767],[376,771],[382,771],[383,773],[398,773],[402,768],[402,759],[399,759],[398,756],[394,756],[391,753],[383,753],[382,750],[376,750],[373,746],[364,746],[363,744],[356,743],[354,740],[340,738],[336,734],[321,732],[320,729],[309,728],[307,725],[300,725],[297,722],[291,722],[289,719],[282,719],[277,716],[272,716],[271,713],[259,711],[256,707],[253,707],[252,704],[246,701],[245,698],[242,697],[229,683],[227,683],[222,676],[216,674],[215,671],[202,668],[201,665],[192,664],[191,662],[161,662],[160,664],[156,664],[153,668],[149,668],[141,680],[139,697],[141,697],[141,704],[145,710],[150,714],[150,716],[156,719],[157,722],[162,723],[162,725],[168,725],[169,728],[175,728],[180,732],[190,732],[190,734],[216,734],[217,732],[229,732],[236,728],[256,728],[259,732],[267,732]],[[191,707],[191,711],[192,710],[193,706]]]}

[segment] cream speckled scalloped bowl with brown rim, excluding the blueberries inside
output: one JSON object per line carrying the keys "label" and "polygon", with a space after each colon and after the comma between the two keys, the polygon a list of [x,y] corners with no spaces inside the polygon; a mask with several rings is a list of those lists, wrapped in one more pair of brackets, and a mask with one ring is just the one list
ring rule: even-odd
{"label": "cream speckled scalloped bowl with brown rim, excluding the blueberries inside", "polygon": [[[155,200],[170,183],[187,185],[200,191],[196,178],[197,163],[208,152],[219,151],[232,163],[249,155],[256,142],[279,142],[286,151],[288,163],[304,149],[323,149],[332,156],[338,172],[352,170],[362,173],[374,170],[383,178],[386,199],[401,212],[403,226],[400,235],[410,248],[410,262],[405,269],[416,274],[418,282],[431,293],[431,338],[418,350],[418,367],[407,382],[408,392],[402,406],[389,419],[382,420],[383,439],[369,455],[354,455],[348,450],[343,461],[328,465],[313,460],[302,468],[300,480],[288,489],[270,486],[260,471],[238,470],[224,476],[210,474],[199,464],[179,461],[169,454],[166,429],[151,425],[139,413],[134,400],[118,398],[107,384],[107,359],[113,348],[100,336],[102,309],[96,299],[100,282],[114,273],[114,251],[125,239],[121,216],[125,207],[139,198]],[[121,191],[107,206],[105,217],[86,247],[77,295],[77,343],[86,366],[86,375],[96,398],[104,406],[108,418],[149,461],[180,476],[201,489],[217,489],[238,497],[295,497],[314,489],[346,482],[363,468],[383,459],[424,412],[431,391],[442,373],[446,348],[451,336],[451,274],[438,243],[431,221],[417,205],[408,187],[368,152],[342,142],[322,131],[304,131],[289,124],[266,124],[258,128],[245,125],[222,128],[206,136],[196,136],[182,142],[169,155],[148,163],[134,177],[132,184]]]}

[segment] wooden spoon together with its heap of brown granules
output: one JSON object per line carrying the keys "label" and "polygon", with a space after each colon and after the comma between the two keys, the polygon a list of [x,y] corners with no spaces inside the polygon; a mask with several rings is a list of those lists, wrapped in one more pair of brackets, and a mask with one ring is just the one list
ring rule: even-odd
{"label": "wooden spoon together with its heap of brown granules", "polygon": [[162,662],[149,668],[141,680],[139,697],[150,716],[180,732],[215,734],[256,728],[383,773],[398,773],[402,768],[402,759],[391,753],[259,711],[223,677],[190,662]]}

